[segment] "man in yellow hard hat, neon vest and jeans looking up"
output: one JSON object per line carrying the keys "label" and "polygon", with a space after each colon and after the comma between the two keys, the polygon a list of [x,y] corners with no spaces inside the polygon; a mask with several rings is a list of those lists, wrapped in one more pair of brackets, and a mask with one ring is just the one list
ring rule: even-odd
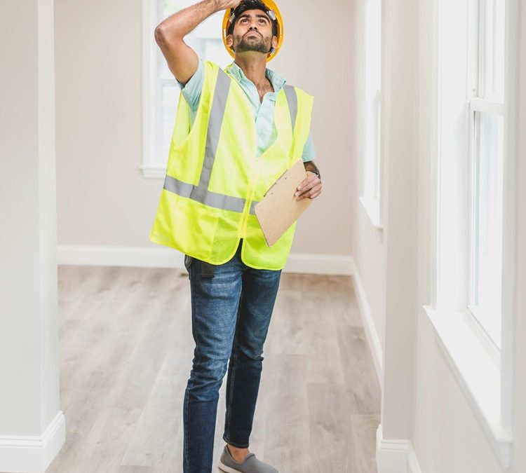
{"label": "man in yellow hard hat, neon vest and jeans looking up", "polygon": [[[182,98],[150,239],[186,254],[196,347],[184,394],[184,473],[209,473],[217,401],[228,368],[220,457],[224,472],[277,470],[249,451],[262,352],[295,224],[272,247],[253,206],[302,158],[297,199],[321,194],[310,137],[313,97],[267,69],[283,35],[271,0],[204,0],[171,15],[155,37]],[[269,8],[271,6],[271,8]],[[229,9],[227,68],[198,58],[183,38]],[[228,21],[227,21],[228,19]]]}

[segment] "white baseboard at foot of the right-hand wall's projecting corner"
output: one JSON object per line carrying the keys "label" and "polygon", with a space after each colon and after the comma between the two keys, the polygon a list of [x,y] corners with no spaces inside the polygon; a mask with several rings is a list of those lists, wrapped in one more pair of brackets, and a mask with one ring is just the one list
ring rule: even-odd
{"label": "white baseboard at foot of the right-hand wall's projecting corner", "polygon": [[422,473],[417,455],[408,439],[384,439],[382,424],[376,431],[378,473]]}

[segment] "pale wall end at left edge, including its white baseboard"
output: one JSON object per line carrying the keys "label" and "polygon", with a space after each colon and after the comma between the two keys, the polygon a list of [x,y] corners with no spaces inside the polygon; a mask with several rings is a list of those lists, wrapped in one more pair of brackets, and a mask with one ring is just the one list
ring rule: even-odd
{"label": "pale wall end at left edge, including its white baseboard", "polygon": [[65,441],[53,0],[1,2],[0,57],[0,471],[43,472]]}

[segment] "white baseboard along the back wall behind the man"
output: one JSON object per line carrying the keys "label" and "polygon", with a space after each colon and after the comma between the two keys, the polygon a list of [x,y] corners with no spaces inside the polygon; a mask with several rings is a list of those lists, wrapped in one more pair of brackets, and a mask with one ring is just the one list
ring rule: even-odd
{"label": "white baseboard along the back wall behind the man", "polygon": [[[58,245],[58,264],[135,266],[184,269],[184,255],[168,247]],[[284,273],[352,275],[353,262],[344,254],[291,253]]]}

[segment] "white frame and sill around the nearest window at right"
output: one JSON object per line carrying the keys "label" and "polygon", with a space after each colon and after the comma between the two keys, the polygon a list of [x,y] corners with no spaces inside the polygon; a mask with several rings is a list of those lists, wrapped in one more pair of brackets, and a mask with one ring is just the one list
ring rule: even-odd
{"label": "white frame and sill around the nearest window at right", "polygon": [[[424,310],[438,347],[506,469],[512,443],[519,0],[506,0],[504,108],[471,100],[468,90],[470,70],[475,67],[468,60],[473,56],[468,48],[475,32],[468,29],[466,35],[466,25],[471,25],[474,1],[433,1],[433,242],[431,301]],[[501,350],[468,310],[470,114],[487,107],[504,114]]]}

